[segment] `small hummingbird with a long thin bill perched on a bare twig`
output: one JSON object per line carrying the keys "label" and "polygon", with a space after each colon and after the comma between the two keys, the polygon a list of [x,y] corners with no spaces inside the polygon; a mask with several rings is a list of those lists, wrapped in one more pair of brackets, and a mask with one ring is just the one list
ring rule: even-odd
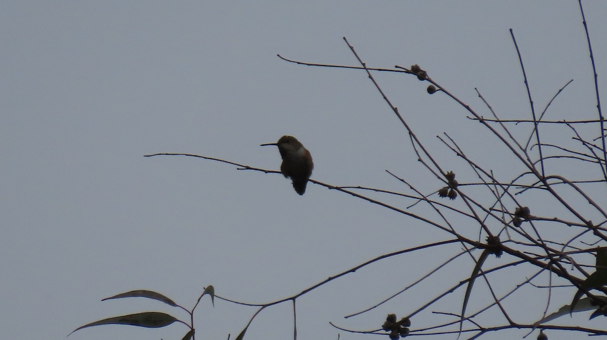
{"label": "small hummingbird with a long thin bill perched on a bare twig", "polygon": [[266,145],[278,146],[280,157],[282,157],[280,172],[285,178],[291,177],[293,188],[297,191],[297,194],[303,195],[308,179],[312,175],[312,169],[314,169],[310,151],[304,148],[304,145],[293,136],[282,136],[276,143],[267,143],[261,146]]}

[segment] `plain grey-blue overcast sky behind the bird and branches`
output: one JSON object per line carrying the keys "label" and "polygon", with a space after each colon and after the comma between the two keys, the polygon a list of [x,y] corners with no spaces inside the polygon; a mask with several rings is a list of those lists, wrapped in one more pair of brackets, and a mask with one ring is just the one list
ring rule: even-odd
{"label": "plain grey-blue overcast sky behind the bird and branches", "polygon": [[[607,2],[584,4],[604,90]],[[279,174],[143,155],[183,152],[276,170],[277,149],[259,145],[290,134],[313,155],[316,180],[410,194],[388,169],[429,194],[440,182],[416,162],[407,132],[365,73],[305,67],[276,54],[356,65],[346,36],[370,67],[419,64],[481,114],[490,116],[475,87],[501,117],[529,119],[509,28],[539,108],[574,79],[547,117],[595,119],[586,37],[572,0],[0,2],[0,339],[64,339],[88,322],[146,310],[187,319],[141,298],[100,301],[134,289],[161,292],[188,308],[209,284],[226,298],[274,301],[383,253],[446,240],[426,224],[322,186],[309,184],[299,196]],[[435,138],[443,131],[503,178],[520,170],[509,169],[512,158],[498,154],[498,142],[467,120],[461,106],[443,94],[429,96],[427,83],[374,75],[446,169],[469,171]],[[520,128],[527,136],[529,126]],[[565,129],[552,132],[571,137]],[[402,209],[413,203],[386,199]],[[478,226],[467,231],[478,234]],[[328,322],[371,330],[387,313],[416,309],[470,275],[472,260],[463,257],[370,313],[343,318],[412,283],[459,247],[385,260],[300,298],[299,338],[377,338],[339,332]],[[512,258],[487,264],[506,261]],[[487,302],[479,287],[471,311]],[[558,290],[561,304],[550,311],[573,292]],[[463,293],[431,310],[457,312]],[[507,303],[538,301],[518,321],[539,319],[546,295],[528,289],[521,296]],[[200,339],[228,333],[234,339],[256,310],[202,303],[195,315]],[[291,308],[262,312],[245,339],[288,339]],[[449,320],[424,318],[413,319],[412,328]],[[587,319],[563,322],[605,328],[605,319]],[[180,324],[115,325],[70,339],[180,339],[186,332]]]}

